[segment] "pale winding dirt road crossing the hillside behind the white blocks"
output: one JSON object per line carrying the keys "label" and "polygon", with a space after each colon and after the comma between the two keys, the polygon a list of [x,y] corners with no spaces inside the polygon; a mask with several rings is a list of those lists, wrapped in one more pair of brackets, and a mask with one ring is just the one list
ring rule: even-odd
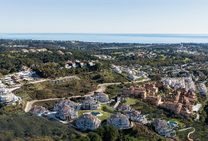
{"label": "pale winding dirt road crossing the hillside behind the white blocks", "polygon": [[[144,81],[149,81],[149,80],[151,80],[151,79],[149,79],[149,78],[148,79],[143,79],[143,80],[140,80],[140,81],[134,81],[133,83],[139,83],[139,82],[144,82]],[[128,84],[128,83],[132,83],[132,82],[125,82],[125,84]],[[84,95],[83,97],[91,96],[91,95],[94,94],[94,92],[104,92],[105,91],[105,86],[115,85],[115,84],[119,85],[119,84],[121,84],[121,82],[99,84],[97,90],[89,92],[86,95]],[[78,95],[78,96],[72,96],[72,97],[69,97],[69,98],[77,98],[77,97],[82,97],[82,96]],[[30,109],[32,108],[33,104],[36,103],[36,102],[42,102],[42,101],[45,102],[45,101],[60,100],[60,99],[63,99],[63,98],[49,98],[49,99],[33,100],[33,101],[30,101],[30,102],[27,102],[27,104],[25,106],[25,112],[29,112]]]}

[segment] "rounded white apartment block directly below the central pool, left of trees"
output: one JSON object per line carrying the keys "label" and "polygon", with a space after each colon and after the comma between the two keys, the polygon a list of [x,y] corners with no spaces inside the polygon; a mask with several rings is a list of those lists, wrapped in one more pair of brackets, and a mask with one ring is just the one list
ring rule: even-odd
{"label": "rounded white apartment block directly below the central pool, left of trees", "polygon": [[83,114],[76,121],[76,126],[81,130],[95,130],[100,126],[101,121],[91,114]]}

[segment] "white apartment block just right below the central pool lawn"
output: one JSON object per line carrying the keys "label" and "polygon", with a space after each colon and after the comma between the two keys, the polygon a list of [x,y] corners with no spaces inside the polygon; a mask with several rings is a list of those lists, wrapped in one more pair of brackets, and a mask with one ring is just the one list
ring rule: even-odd
{"label": "white apartment block just right below the central pool lawn", "polygon": [[112,125],[119,130],[131,128],[131,124],[130,124],[128,117],[121,113],[111,115],[107,119],[107,125]]}

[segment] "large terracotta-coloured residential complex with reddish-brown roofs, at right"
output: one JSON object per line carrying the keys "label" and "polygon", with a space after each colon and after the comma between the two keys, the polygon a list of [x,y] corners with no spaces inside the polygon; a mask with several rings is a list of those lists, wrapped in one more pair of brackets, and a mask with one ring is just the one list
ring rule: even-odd
{"label": "large terracotta-coloured residential complex with reddish-brown roofs, at right", "polygon": [[187,117],[194,114],[193,107],[197,101],[197,96],[194,92],[185,88],[177,88],[173,89],[168,95],[157,95],[158,89],[162,87],[168,89],[167,84],[157,81],[125,87],[121,89],[120,93],[122,95],[133,94],[159,108],[167,109]]}

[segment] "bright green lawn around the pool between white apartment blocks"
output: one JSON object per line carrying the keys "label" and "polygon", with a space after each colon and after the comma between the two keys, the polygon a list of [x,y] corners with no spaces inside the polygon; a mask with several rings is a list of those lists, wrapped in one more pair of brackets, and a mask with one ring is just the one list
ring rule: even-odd
{"label": "bright green lawn around the pool between white apartment blocks", "polygon": [[113,115],[114,110],[108,108],[112,113],[104,112],[104,111],[102,110],[102,107],[103,107],[103,106],[106,106],[106,107],[108,108],[107,104],[101,104],[101,109],[98,109],[98,110],[84,110],[84,111],[78,110],[78,116],[81,116],[83,113],[88,113],[88,112],[100,112],[100,113],[102,113],[103,115],[102,115],[102,116],[98,116],[98,118],[99,118],[101,121],[106,120],[109,116]]}

